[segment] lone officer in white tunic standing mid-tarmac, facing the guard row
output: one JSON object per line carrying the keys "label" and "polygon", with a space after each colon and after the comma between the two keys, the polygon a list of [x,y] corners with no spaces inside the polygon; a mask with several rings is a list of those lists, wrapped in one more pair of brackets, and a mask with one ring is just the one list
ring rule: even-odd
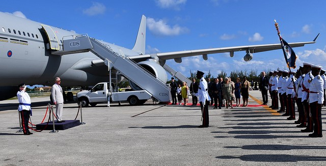
{"label": "lone officer in white tunic standing mid-tarmac, facing the guard row", "polygon": [[208,95],[208,85],[207,81],[203,77],[204,73],[197,70],[197,78],[200,79],[199,87],[198,87],[198,100],[200,103],[200,108],[202,111],[202,117],[203,117],[203,124],[198,126],[199,128],[202,127],[208,127],[209,125],[209,117],[208,117],[208,104],[210,101],[210,97]]}

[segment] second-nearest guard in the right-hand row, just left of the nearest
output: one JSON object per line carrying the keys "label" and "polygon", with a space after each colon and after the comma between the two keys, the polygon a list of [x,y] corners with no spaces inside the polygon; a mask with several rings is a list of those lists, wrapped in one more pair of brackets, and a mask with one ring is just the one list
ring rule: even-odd
{"label": "second-nearest guard in the right-hand row, just left of the nearest", "polygon": [[310,107],[309,107],[309,87],[310,87],[310,82],[314,78],[314,76],[311,74],[311,65],[310,63],[304,63],[303,67],[303,73],[305,74],[304,80],[302,81],[302,103],[304,104],[304,110],[305,110],[305,119],[306,123],[302,123],[302,127],[304,125],[307,126],[306,129],[301,130],[301,132],[312,132],[313,130],[313,124],[312,124],[312,119],[310,118]]}

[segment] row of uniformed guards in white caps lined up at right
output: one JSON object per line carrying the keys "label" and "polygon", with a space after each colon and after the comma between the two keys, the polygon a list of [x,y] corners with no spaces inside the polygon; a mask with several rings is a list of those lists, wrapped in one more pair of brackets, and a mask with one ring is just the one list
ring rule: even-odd
{"label": "row of uniformed guards in white caps lined up at right", "polygon": [[[298,124],[296,127],[305,128],[302,132],[313,132],[310,137],[322,137],[321,107],[325,105],[326,76],[321,66],[304,63],[296,72],[287,70],[270,71],[268,91],[271,96],[272,109],[279,109],[287,120],[295,120],[295,103],[298,109]],[[264,74],[262,74],[264,75]],[[264,76],[265,77],[265,76]],[[264,104],[267,103],[265,79],[259,86]]]}

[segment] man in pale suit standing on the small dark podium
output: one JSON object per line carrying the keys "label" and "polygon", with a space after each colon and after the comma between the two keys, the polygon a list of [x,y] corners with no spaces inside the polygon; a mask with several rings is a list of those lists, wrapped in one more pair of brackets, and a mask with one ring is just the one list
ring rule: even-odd
{"label": "man in pale suit standing on the small dark podium", "polygon": [[51,96],[53,103],[56,104],[56,117],[57,117],[57,122],[62,123],[65,122],[62,120],[62,112],[63,112],[63,92],[62,88],[60,86],[61,84],[61,79],[59,77],[55,78],[55,84],[51,88]]}

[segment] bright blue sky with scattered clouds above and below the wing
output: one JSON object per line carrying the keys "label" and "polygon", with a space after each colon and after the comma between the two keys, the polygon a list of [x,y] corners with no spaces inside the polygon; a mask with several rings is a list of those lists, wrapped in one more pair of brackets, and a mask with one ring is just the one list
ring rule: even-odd
{"label": "bright blue sky with scattered clouds above and below the wing", "polygon": [[[132,48],[142,15],[147,17],[146,53],[215,47],[280,43],[274,26],[279,23],[288,42],[315,44],[293,48],[298,59],[326,68],[326,1],[258,0],[140,0],[140,1],[3,1],[1,12],[58,26],[76,33]],[[246,52],[209,54],[174,60],[167,64],[186,76],[189,71],[209,70],[217,76],[235,70],[286,69],[282,50],[254,53],[244,62]]]}

